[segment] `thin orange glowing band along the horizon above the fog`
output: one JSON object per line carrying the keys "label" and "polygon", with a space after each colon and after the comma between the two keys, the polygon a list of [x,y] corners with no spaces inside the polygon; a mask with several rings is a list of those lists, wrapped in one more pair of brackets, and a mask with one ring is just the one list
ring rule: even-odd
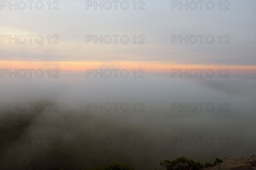
{"label": "thin orange glowing band along the horizon above the fog", "polygon": [[14,61],[14,60],[0,60],[1,69],[59,69],[61,71],[85,71],[86,69],[144,69],[148,72],[168,73],[172,69],[229,69],[232,73],[255,74],[256,65],[195,65],[195,64],[174,64],[169,62],[152,62],[152,61]]}

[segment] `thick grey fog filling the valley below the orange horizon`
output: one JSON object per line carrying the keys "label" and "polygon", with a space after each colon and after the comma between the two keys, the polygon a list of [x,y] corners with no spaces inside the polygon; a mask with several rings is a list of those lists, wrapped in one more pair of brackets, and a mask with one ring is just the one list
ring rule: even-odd
{"label": "thick grey fog filling the valley below the orange horizon", "polygon": [[[255,154],[254,76],[86,78],[71,72],[56,79],[1,78],[0,83],[1,169],[82,169],[113,161],[135,169],[161,169],[160,161],[180,156],[204,163]],[[29,102],[43,104],[44,110],[33,105],[32,111],[9,111],[3,105]],[[48,103],[58,105],[49,111]],[[94,103],[102,103],[102,111],[95,111]],[[109,105],[103,107],[106,103],[111,111]],[[119,103],[116,111],[112,103]],[[195,105],[180,111],[173,103],[205,104],[202,111],[198,104],[196,111]],[[213,111],[206,109],[207,103],[214,105]],[[32,137],[32,144],[15,143],[20,137]],[[37,137],[44,144],[35,144]]]}

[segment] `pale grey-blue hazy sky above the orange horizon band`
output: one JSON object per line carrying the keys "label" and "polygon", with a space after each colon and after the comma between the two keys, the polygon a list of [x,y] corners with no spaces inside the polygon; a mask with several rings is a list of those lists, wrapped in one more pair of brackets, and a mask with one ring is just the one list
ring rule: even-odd
{"label": "pale grey-blue hazy sky above the orange horizon band", "polygon": [[[200,64],[200,65],[254,65],[256,2],[254,0],[229,1],[230,10],[219,10],[217,1],[209,10],[199,3],[195,10],[182,10],[173,6],[172,1],[143,1],[144,10],[134,10],[133,1],[128,1],[129,8],[122,10],[114,4],[110,10],[94,6],[86,9],[87,1],[58,1],[59,10],[1,10],[1,35],[42,35],[44,42],[37,44],[28,41],[25,44],[1,44],[1,60],[18,61],[98,61],[98,62],[157,62],[159,64]],[[93,1],[94,2],[94,1]],[[100,1],[97,1],[98,3]],[[104,1],[103,1],[104,2]],[[121,1],[120,1],[121,2]],[[179,2],[179,1],[178,1]],[[183,1],[185,2],[185,1]],[[138,3],[138,1],[137,1]],[[28,5],[28,4],[27,4]],[[56,4],[52,4],[55,6]],[[141,6],[142,4],[137,4]],[[192,6],[192,4],[191,4]],[[210,5],[209,5],[210,6]],[[227,4],[222,4],[224,8]],[[191,7],[192,8],[192,7]],[[48,35],[58,35],[59,44],[48,44]],[[128,35],[129,42],[122,44],[86,43],[86,35]],[[145,44],[134,44],[133,35],[143,35]],[[208,44],[172,43],[172,35],[212,35],[215,40]],[[228,35],[230,44],[219,44]],[[52,39],[54,40],[54,39]]]}

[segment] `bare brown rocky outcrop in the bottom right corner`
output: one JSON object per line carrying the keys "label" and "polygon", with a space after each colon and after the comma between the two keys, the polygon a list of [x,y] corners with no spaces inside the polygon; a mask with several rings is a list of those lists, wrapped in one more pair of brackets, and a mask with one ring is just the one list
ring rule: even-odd
{"label": "bare brown rocky outcrop in the bottom right corner", "polygon": [[256,170],[256,156],[248,158],[224,158],[221,164],[203,170]]}

